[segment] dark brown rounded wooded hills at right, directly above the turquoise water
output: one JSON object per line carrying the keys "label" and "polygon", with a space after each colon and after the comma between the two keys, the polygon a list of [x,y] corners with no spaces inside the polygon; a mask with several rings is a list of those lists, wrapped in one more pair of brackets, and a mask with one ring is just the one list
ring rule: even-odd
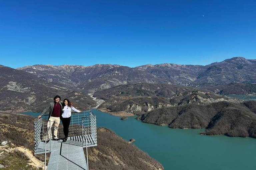
{"label": "dark brown rounded wooded hills at right, directly above the turquoise water", "polygon": [[207,105],[194,103],[159,108],[138,119],[145,123],[169,125],[170,128],[206,128],[202,134],[256,138],[256,101],[240,104],[218,102]]}

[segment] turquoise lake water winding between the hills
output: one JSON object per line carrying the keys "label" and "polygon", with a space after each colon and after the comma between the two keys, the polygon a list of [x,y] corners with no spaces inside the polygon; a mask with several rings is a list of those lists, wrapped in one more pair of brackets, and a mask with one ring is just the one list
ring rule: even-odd
{"label": "turquoise lake water winding between the hills", "polygon": [[97,127],[110,128],[126,140],[134,138],[133,144],[158,160],[165,170],[255,169],[255,138],[199,135],[205,129],[172,129],[142,123],[135,116],[122,121],[107,113],[92,112],[97,116]]}

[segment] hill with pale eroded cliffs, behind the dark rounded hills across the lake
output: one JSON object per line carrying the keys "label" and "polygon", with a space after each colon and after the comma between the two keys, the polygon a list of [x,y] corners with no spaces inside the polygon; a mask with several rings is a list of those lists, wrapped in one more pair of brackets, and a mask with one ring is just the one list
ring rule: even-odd
{"label": "hill with pale eroded cliffs, behind the dark rounded hills across the lake", "polygon": [[216,95],[207,90],[198,90],[184,86],[167,84],[129,84],[95,92],[94,97],[106,101],[98,108],[110,112],[125,111],[135,115],[163,107],[196,103],[198,105],[230,101],[240,103],[242,100]]}

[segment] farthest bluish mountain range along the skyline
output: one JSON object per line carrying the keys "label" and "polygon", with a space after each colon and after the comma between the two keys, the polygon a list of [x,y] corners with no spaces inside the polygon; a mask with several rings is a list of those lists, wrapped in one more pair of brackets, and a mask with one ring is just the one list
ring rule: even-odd
{"label": "farthest bluish mountain range along the skyline", "polygon": [[56,85],[91,93],[131,83],[209,87],[228,83],[256,83],[256,59],[234,57],[208,65],[33,65],[17,68]]}

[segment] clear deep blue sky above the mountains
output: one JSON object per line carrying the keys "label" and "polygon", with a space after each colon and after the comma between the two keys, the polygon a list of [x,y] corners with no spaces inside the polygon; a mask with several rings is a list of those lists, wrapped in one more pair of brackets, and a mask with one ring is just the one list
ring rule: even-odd
{"label": "clear deep blue sky above the mountains", "polygon": [[255,59],[255,9],[255,0],[2,0],[0,64],[135,67]]}

